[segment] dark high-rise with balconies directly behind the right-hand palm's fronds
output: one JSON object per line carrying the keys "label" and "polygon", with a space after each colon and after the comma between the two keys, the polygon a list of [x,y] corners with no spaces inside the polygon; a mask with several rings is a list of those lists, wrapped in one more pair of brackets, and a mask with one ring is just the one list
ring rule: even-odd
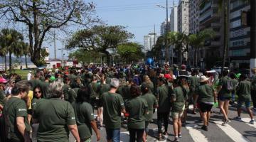
{"label": "dark high-rise with balconies directly behind the right-hand palm's fronds", "polygon": [[216,0],[200,0],[199,13],[199,30],[203,31],[205,28],[212,28],[213,31],[215,31],[215,38],[207,40],[204,47],[199,50],[198,59],[201,61],[201,67],[213,64],[216,66],[222,65],[221,58],[224,48],[224,12],[223,10],[220,10],[218,1]]}

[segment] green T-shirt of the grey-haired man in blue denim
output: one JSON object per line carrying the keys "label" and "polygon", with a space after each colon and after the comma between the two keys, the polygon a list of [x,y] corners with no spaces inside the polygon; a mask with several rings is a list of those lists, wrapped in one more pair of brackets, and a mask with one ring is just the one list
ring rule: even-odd
{"label": "green T-shirt of the grey-haired man in blue denim", "polygon": [[124,109],[122,96],[117,93],[105,92],[102,94],[103,122],[107,129],[121,127],[121,111]]}

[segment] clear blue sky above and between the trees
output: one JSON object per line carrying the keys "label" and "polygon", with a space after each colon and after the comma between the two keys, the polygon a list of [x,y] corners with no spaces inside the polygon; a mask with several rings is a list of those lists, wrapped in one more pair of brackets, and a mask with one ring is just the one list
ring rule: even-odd
{"label": "clear blue sky above and between the trees", "polygon": [[[144,44],[144,35],[155,32],[160,34],[161,23],[166,21],[166,0],[84,0],[85,2],[93,2],[95,4],[95,14],[109,26],[124,26],[126,30],[134,34],[133,42]],[[168,0],[169,14],[174,0]],[[178,0],[175,0],[176,4]],[[156,6],[159,5],[159,6]],[[19,25],[6,24],[1,25],[1,28],[18,28]],[[26,29],[25,27],[20,27]],[[71,27],[72,28],[72,27]],[[58,34],[58,33],[56,33]],[[53,36],[51,36],[53,37]],[[56,35],[57,49],[63,48],[63,41],[59,40]],[[27,37],[25,37],[27,38]],[[70,37],[65,37],[70,38]],[[49,47],[50,58],[54,58],[54,43],[46,40],[43,43],[44,47]],[[64,51],[64,58],[68,58],[68,53],[72,51]],[[61,59],[61,50],[57,50],[57,58]]]}

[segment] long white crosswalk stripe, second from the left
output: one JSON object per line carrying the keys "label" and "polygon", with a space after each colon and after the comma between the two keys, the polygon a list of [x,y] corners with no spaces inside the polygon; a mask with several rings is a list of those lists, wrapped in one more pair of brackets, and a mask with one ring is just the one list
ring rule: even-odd
{"label": "long white crosswalk stripe, second from the left", "polygon": [[222,131],[224,131],[233,141],[239,141],[239,142],[247,142],[249,141],[247,138],[242,136],[241,133],[233,129],[232,126],[227,124],[226,126],[222,126],[222,121],[213,121]]}

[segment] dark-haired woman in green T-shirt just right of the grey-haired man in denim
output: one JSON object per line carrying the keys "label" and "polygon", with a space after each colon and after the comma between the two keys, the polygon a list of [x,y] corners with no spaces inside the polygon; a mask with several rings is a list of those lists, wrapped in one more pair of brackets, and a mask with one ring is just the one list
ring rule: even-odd
{"label": "dark-haired woman in green T-shirt just right of the grey-haired man in denim", "polygon": [[132,98],[125,102],[125,110],[129,114],[127,124],[130,136],[129,141],[142,142],[148,105],[145,99],[139,97],[140,91],[137,84],[132,84],[131,95]]}

